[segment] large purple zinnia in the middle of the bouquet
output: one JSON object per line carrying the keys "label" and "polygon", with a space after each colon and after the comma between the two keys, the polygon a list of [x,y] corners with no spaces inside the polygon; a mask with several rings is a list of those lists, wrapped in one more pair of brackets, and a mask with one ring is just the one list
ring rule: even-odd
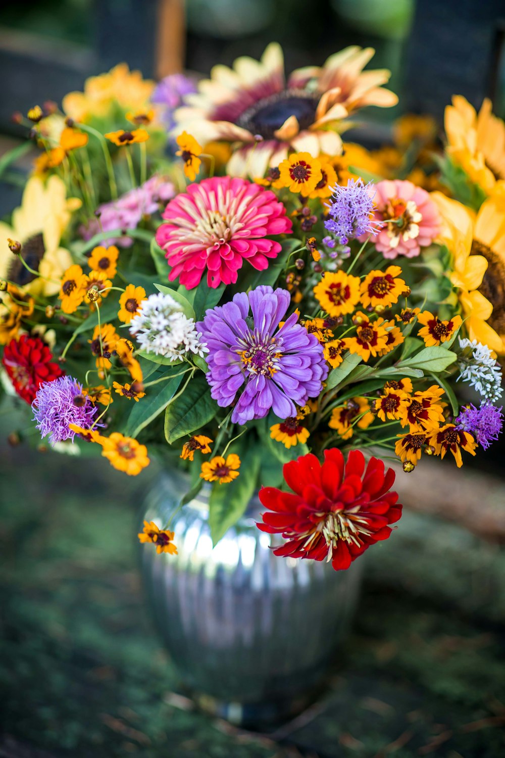
{"label": "large purple zinnia in the middle of the bouquet", "polygon": [[286,290],[256,287],[207,310],[197,324],[209,349],[207,382],[217,405],[231,406],[242,390],[233,423],[263,418],[270,409],[279,418],[295,416],[295,403],[304,406],[322,389],[328,367],[316,337],[297,324],[296,313],[279,328],[290,302]]}

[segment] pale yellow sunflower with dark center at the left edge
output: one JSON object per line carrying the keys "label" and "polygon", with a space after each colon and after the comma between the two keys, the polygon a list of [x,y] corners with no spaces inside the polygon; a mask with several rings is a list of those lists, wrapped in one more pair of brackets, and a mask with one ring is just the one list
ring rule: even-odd
{"label": "pale yellow sunflower with dark center at the left edge", "polygon": [[[61,276],[72,265],[70,252],[60,246],[60,240],[72,212],[80,205],[79,199],[67,198],[60,177],[49,177],[47,183],[30,177],[20,207],[12,212],[11,226],[0,223],[0,278],[34,296],[58,293]],[[11,253],[8,238],[21,243],[24,261],[45,279],[24,268]]]}

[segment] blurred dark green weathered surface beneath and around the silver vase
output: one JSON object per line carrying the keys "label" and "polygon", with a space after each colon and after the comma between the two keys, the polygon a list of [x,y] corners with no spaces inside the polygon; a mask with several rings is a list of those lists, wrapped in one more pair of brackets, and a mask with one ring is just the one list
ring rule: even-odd
{"label": "blurred dark green weathered surface beneath and around the silver vase", "polygon": [[505,756],[503,553],[419,516],[369,560],[321,703],[269,736],[191,709],[136,570],[154,473],[0,448],[0,758]]}

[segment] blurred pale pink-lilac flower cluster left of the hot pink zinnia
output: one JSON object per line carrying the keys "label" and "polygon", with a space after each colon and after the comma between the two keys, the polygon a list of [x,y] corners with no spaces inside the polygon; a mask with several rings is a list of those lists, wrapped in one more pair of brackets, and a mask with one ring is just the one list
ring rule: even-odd
{"label": "blurred pale pink-lilac flower cluster left of the hot pink zinnia", "polygon": [[[117,200],[104,202],[97,208],[98,218],[92,218],[86,226],[80,228],[84,240],[91,239],[98,232],[109,232],[116,229],[136,229],[143,216],[151,215],[159,210],[160,202],[173,198],[175,190],[171,182],[154,174],[144,184],[120,196]],[[129,247],[133,240],[129,236],[104,240],[102,245],[120,245]]]}

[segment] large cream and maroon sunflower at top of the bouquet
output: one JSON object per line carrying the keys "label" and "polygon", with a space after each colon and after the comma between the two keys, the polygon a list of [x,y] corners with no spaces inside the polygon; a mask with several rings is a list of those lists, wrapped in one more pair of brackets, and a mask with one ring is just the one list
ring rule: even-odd
{"label": "large cream and maroon sunflower at top of the bouquet", "polygon": [[282,49],[268,45],[260,61],[238,58],[230,69],[214,66],[198,92],[185,97],[175,113],[174,133],[182,130],[204,144],[210,140],[235,143],[238,149],[227,171],[262,177],[289,150],[341,152],[342,119],[365,105],[396,105],[397,96],[382,87],[385,69],[365,71],[373,48],[348,47],[332,55],[323,67],[295,70],[284,77]]}

